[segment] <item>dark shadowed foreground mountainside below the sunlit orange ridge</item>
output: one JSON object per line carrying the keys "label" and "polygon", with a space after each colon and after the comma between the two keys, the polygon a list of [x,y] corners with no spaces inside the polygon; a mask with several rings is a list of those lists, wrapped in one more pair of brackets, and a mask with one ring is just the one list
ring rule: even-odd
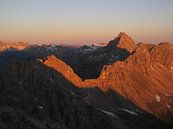
{"label": "dark shadowed foreground mountainside below the sunlit orange ridge", "polygon": [[[66,68],[54,56],[45,63]],[[172,128],[114,92],[76,88],[62,76],[64,70],[40,60],[13,57],[0,67],[1,129]]]}

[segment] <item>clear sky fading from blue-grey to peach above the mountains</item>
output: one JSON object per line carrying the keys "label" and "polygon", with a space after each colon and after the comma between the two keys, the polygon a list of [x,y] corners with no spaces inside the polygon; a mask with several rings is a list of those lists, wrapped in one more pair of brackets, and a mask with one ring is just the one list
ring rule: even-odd
{"label": "clear sky fading from blue-grey to peach above the mountains", "polygon": [[173,0],[0,0],[0,40],[92,44],[126,32],[173,43]]}

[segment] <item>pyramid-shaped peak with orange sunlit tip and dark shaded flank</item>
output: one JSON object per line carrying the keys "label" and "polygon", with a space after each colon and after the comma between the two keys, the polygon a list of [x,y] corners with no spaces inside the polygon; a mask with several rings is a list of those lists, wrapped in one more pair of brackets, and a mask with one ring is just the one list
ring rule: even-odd
{"label": "pyramid-shaped peak with orange sunlit tip and dark shaded flank", "polygon": [[125,60],[134,49],[135,42],[127,34],[121,32],[106,46],[99,47],[92,53],[80,57],[80,63],[77,64],[75,71],[82,80],[97,78],[104,65]]}

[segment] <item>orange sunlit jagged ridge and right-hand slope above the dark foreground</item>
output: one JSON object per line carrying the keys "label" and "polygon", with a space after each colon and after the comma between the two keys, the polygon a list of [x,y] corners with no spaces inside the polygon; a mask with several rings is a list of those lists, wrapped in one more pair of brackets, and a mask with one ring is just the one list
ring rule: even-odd
{"label": "orange sunlit jagged ridge and right-hand slope above the dark foreground", "polygon": [[[49,60],[49,59],[48,59]],[[48,66],[67,77],[59,70],[56,61]],[[111,89],[126,97],[143,110],[171,122],[173,113],[173,46],[169,43],[150,45],[139,43],[125,61],[105,65],[97,79],[81,79],[70,70],[68,80],[77,87]],[[45,64],[47,65],[46,61]],[[68,65],[64,68],[69,69]]]}

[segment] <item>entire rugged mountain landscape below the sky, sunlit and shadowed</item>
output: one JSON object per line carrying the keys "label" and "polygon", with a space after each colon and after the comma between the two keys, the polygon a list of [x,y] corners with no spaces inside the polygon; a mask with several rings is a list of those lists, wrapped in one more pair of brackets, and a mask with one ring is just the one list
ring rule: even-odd
{"label": "entire rugged mountain landscape below the sky, sunlit and shadowed", "polygon": [[170,43],[121,32],[101,45],[0,42],[0,51],[0,128],[173,128]]}

